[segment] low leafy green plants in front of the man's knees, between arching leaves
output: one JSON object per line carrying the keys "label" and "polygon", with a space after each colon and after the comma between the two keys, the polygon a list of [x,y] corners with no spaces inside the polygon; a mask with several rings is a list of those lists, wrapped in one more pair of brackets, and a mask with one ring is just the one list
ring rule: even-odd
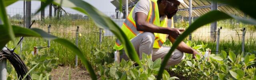
{"label": "low leafy green plants in front of the man's knees, between arching leaves", "polygon": [[[103,62],[105,58],[112,55],[99,53],[100,52],[96,52],[95,54],[98,59]],[[100,55],[105,55],[105,57],[100,58]],[[120,64],[117,62],[98,63],[98,74],[102,80],[155,80],[161,66],[161,59],[157,59],[154,62],[151,59],[151,56],[143,54],[142,60],[140,60],[143,66],[135,66],[135,62],[131,60],[126,61],[124,59],[121,60]],[[164,71],[163,80],[178,79],[177,77],[170,77],[170,74],[166,70]]]}

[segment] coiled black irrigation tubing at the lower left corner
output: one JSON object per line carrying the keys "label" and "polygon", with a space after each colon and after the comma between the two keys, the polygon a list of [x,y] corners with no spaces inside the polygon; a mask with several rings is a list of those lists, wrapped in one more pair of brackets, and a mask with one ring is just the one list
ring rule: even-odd
{"label": "coiled black irrigation tubing at the lower left corner", "polygon": [[[20,78],[20,80],[22,80],[24,76],[28,73],[28,68],[26,67],[26,64],[21,60],[21,58],[16,53],[11,52],[10,50],[0,50],[0,60],[4,58],[10,61],[16,73],[18,74],[17,78]],[[28,76],[26,76],[26,78],[24,79],[30,80],[30,74],[28,74]]]}

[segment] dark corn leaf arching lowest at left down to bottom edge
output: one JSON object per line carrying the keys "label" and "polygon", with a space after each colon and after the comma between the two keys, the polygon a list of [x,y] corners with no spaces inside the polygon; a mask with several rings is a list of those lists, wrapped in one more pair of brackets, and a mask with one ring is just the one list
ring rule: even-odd
{"label": "dark corn leaf arching lowest at left down to bottom edge", "polygon": [[[2,27],[3,25],[0,25],[0,33],[4,32]],[[96,74],[92,68],[92,66],[90,65],[90,62],[88,62],[88,60],[86,60],[86,58],[84,57],[84,55],[82,54],[82,51],[75,46],[73,43],[71,43],[68,40],[62,39],[62,38],[57,38],[55,36],[52,36],[46,32],[44,32],[43,30],[37,29],[37,28],[32,28],[30,29],[26,29],[26,28],[22,28],[19,26],[12,26],[13,27],[13,31],[14,34],[16,35],[16,37],[18,36],[35,36],[35,37],[42,37],[48,40],[53,40],[55,42],[58,42],[60,44],[63,44],[63,46],[69,48],[70,50],[72,50],[76,55],[78,55],[78,57],[81,59],[81,61],[83,62],[84,66],[86,66],[86,69],[88,70],[88,72],[90,73],[90,76],[93,80],[96,80]],[[8,35],[6,34],[0,34],[0,37],[6,37]],[[4,40],[0,40],[1,43],[1,48],[10,41],[9,37],[6,37]]]}

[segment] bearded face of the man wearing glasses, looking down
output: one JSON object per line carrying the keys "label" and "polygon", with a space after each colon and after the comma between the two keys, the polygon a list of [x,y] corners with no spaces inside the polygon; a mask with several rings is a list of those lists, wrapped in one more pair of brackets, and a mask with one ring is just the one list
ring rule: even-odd
{"label": "bearded face of the man wearing glasses, looking down", "polygon": [[171,19],[172,16],[174,16],[177,11],[178,11],[178,6],[180,5],[180,2],[177,1],[177,0],[165,0],[167,5],[166,5],[166,8],[165,8],[165,14],[167,16],[168,19]]}

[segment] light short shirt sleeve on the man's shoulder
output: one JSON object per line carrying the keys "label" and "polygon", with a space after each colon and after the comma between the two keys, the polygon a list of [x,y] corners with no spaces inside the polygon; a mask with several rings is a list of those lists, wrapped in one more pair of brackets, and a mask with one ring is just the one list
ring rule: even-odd
{"label": "light short shirt sleeve on the man's shoulder", "polygon": [[142,12],[148,15],[150,10],[150,1],[149,0],[140,0],[137,2],[136,6],[134,7],[134,12]]}

